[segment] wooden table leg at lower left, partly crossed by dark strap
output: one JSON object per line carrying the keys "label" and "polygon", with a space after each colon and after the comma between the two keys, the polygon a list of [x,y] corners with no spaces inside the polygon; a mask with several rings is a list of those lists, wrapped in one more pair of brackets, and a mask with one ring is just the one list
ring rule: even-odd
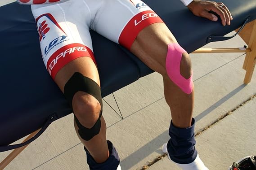
{"label": "wooden table leg at lower left, partly crossed by dark strap", "polygon": [[[40,129],[37,130],[37,131],[34,131],[34,132],[31,133],[30,135],[28,135],[27,138],[26,138],[23,142],[26,142],[27,140],[29,140],[29,139],[31,139],[32,137],[34,137],[34,136],[38,133],[38,131],[40,131]],[[10,153],[10,154],[4,159],[4,161],[2,161],[2,162],[0,163],[0,170],[3,170],[3,169],[4,169],[11,161],[13,161],[13,159],[14,159],[15,157],[17,157],[18,154],[20,154],[27,146],[28,146],[28,144],[25,145],[25,146],[23,146],[23,147],[14,149],[13,152]]]}

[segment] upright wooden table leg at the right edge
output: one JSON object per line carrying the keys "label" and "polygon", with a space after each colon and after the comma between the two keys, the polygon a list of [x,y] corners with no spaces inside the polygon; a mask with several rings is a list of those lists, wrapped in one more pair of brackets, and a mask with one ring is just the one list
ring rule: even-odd
{"label": "upright wooden table leg at the right edge", "polygon": [[248,84],[251,82],[252,74],[256,64],[256,22],[254,22],[248,48],[251,48],[251,52],[248,52],[246,54],[246,57],[243,63],[243,69],[246,70],[246,75],[243,81],[245,84]]}

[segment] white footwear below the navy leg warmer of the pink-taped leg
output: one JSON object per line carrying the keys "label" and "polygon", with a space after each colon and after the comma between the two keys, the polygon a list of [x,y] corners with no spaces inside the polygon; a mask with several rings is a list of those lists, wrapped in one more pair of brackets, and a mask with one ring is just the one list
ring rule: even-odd
{"label": "white footwear below the navy leg warmer of the pink-taped leg", "polygon": [[[163,144],[162,146],[163,153],[167,153],[168,158],[171,160],[169,153],[167,151],[167,144]],[[172,160],[171,160],[172,161]],[[174,162],[174,161],[173,161]],[[182,170],[209,170],[202,160],[200,159],[199,155],[197,155],[196,159],[189,163],[189,164],[179,164],[174,162],[177,166],[179,166]]]}

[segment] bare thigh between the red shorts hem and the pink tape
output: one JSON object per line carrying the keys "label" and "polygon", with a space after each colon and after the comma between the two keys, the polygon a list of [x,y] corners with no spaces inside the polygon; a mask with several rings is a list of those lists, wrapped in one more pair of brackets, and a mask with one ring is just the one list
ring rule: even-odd
{"label": "bare thigh between the red shorts hem and the pink tape", "polygon": [[169,43],[177,43],[174,35],[164,23],[154,23],[139,32],[130,51],[152,70],[165,74]]}

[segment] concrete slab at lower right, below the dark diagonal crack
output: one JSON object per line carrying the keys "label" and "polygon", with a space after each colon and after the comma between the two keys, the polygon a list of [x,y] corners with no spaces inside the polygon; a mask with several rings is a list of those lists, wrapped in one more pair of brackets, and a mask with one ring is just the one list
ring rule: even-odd
{"label": "concrete slab at lower right, below the dark diagonal crack", "polygon": [[[225,170],[234,160],[256,155],[255,106],[256,97],[197,135],[198,152],[210,170]],[[164,157],[148,170],[170,169],[179,170]]]}

